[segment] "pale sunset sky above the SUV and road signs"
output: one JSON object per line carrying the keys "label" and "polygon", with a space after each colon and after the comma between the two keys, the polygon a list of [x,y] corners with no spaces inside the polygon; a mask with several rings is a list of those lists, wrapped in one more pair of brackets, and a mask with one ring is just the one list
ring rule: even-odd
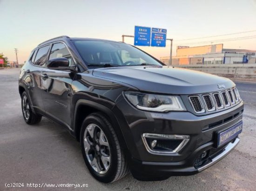
{"label": "pale sunset sky above the SUV and road signs", "polygon": [[[19,63],[38,44],[57,36],[121,41],[122,34],[134,35],[135,26],[167,29],[175,55],[178,45],[256,36],[256,0],[0,0],[0,23],[0,53],[15,61],[18,48]],[[229,33],[240,34],[186,40]],[[223,48],[256,50],[256,38],[222,43]],[[159,59],[169,56],[170,42],[139,48]]]}

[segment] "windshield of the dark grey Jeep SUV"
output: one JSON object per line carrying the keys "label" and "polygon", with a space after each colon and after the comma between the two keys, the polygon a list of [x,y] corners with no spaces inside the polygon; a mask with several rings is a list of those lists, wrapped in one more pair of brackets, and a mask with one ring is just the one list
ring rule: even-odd
{"label": "windshield of the dark grey Jeep SUV", "polygon": [[148,54],[124,43],[100,40],[74,40],[74,46],[87,66],[162,66]]}

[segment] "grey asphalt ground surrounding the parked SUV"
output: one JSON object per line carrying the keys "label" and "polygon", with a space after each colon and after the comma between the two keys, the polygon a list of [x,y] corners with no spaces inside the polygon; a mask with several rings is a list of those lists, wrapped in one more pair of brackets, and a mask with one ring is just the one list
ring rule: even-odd
{"label": "grey asphalt ground surrounding the parked SUV", "polygon": [[[131,175],[102,184],[90,175],[78,142],[43,118],[27,125],[18,93],[19,69],[0,70],[0,191],[3,190],[256,190],[256,84],[236,83],[245,102],[241,142],[226,158],[199,174],[141,182]],[[6,188],[23,183],[23,188]],[[34,184],[88,184],[85,188],[29,188]]]}

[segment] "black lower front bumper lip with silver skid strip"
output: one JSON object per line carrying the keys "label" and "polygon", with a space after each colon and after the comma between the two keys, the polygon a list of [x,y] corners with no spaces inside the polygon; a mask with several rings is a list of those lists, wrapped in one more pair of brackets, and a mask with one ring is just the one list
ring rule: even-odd
{"label": "black lower front bumper lip with silver skid strip", "polygon": [[205,170],[211,165],[216,164],[222,158],[231,152],[236,145],[239,143],[240,139],[235,138],[232,142],[225,146],[221,151],[219,151],[214,157],[209,158],[209,162],[196,168],[194,166],[195,156],[198,153],[209,150],[213,147],[212,143],[207,143],[196,149],[189,158],[180,162],[145,162],[139,160],[132,160],[131,171],[133,176],[138,180],[162,180],[170,176],[184,176],[192,175]]}

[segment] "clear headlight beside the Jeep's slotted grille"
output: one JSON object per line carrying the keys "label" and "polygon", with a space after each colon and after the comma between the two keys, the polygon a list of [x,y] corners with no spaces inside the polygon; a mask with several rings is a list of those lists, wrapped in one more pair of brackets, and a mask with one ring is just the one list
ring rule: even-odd
{"label": "clear headlight beside the Jeep's slotted grille", "polygon": [[125,91],[125,97],[138,109],[152,112],[186,111],[179,96]]}

